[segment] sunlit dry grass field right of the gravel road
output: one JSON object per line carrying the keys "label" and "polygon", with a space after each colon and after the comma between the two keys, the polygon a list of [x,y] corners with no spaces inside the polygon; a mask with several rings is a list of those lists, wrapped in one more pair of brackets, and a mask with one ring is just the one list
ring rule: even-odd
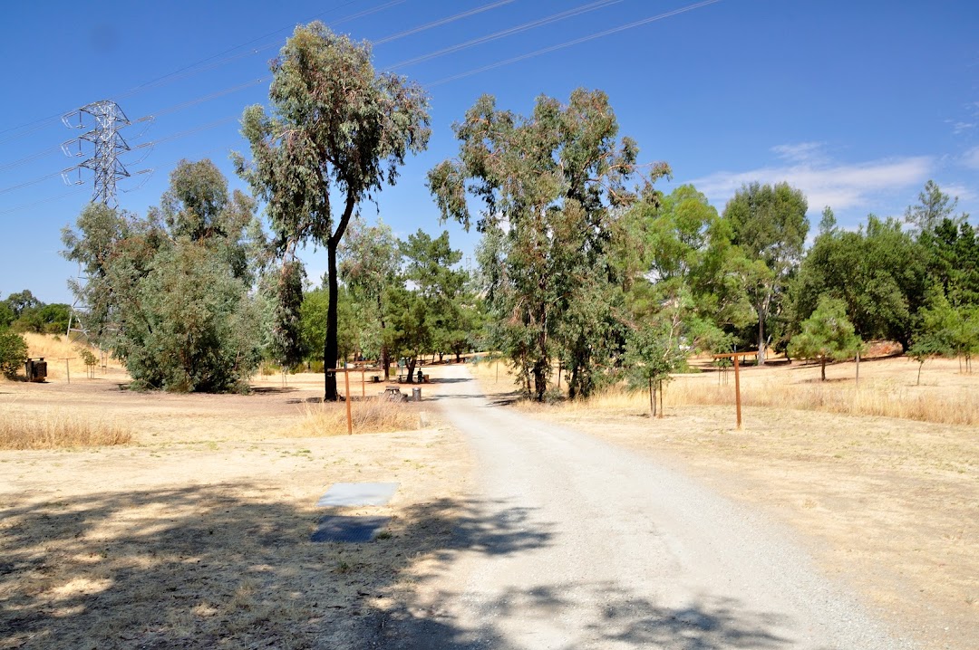
{"label": "sunlit dry grass field right of the gravel road", "polygon": [[[728,497],[764,508],[925,648],[979,647],[979,374],[902,358],[819,369],[798,364],[678,376],[665,416],[645,392],[516,408],[655,456]],[[490,393],[505,366],[478,367]],[[497,373],[499,379],[497,380]]]}

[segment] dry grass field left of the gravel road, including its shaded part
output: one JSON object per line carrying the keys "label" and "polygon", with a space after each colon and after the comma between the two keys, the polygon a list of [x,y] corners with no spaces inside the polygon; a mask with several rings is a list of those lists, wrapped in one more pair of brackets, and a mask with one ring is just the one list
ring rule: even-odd
{"label": "dry grass field left of the gravel road, including its shaded part", "polygon": [[[249,396],[126,380],[0,381],[0,430],[67,432],[0,450],[0,648],[358,647],[472,507],[469,456],[431,403],[393,417],[356,400],[358,432],[365,417],[390,431],[348,436],[343,405],[316,403],[322,375]],[[122,437],[93,447],[83,429]],[[346,481],[400,485],[384,507],[315,506]],[[328,513],[392,521],[373,543],[310,542]]]}

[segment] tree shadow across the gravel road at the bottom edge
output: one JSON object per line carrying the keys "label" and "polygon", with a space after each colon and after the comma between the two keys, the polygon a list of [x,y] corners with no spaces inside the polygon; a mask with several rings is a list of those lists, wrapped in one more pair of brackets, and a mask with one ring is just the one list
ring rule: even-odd
{"label": "tree shadow across the gravel road at the bottom edge", "polygon": [[[440,594],[443,602],[460,597],[462,594]],[[471,601],[473,596],[466,598]],[[772,631],[781,623],[777,616],[754,611],[734,600],[702,599],[686,607],[671,608],[639,597],[621,585],[610,584],[541,585],[511,589],[489,600],[476,599],[483,621],[476,628],[460,626],[442,608],[404,603],[389,613],[369,647],[780,650],[798,645],[796,640]],[[593,607],[590,611],[587,607],[576,607],[582,602],[592,603]],[[515,613],[527,628],[508,628],[503,623]],[[532,623],[527,624],[528,621]],[[575,632],[569,633],[568,628],[574,628]]]}

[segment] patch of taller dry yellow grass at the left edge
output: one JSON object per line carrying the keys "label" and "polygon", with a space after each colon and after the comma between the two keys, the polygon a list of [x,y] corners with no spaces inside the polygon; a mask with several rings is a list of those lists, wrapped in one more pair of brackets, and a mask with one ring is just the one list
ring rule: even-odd
{"label": "patch of taller dry yellow grass at the left edge", "polygon": [[127,445],[132,433],[115,422],[70,412],[0,411],[0,449],[41,450]]}

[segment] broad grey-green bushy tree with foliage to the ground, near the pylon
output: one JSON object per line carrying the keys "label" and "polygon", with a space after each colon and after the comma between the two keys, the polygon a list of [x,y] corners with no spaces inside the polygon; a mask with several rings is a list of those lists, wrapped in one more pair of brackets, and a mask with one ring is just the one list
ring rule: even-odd
{"label": "broad grey-green bushy tree with foliage to the ground, near the pylon", "polygon": [[[260,230],[251,199],[228,195],[211,171],[210,161],[182,161],[163,208],[140,219],[93,203],[77,231],[63,233],[65,256],[88,278],[71,285],[89,306],[86,326],[137,386],[240,390],[256,368],[261,318],[249,295],[250,251]],[[207,183],[187,182],[195,174]]]}

